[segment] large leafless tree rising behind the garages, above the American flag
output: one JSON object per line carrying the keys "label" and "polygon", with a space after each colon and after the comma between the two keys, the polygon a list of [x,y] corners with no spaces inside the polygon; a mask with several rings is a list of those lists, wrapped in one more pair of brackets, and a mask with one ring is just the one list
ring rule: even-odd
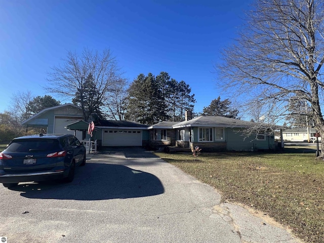
{"label": "large leafless tree rising behind the garages, above the American flag", "polygon": [[[65,98],[78,96],[78,103],[84,113],[84,119],[88,120],[90,111],[87,110],[86,82],[91,74],[93,85],[96,90],[96,100],[102,103],[109,92],[111,85],[119,79],[120,69],[117,66],[115,57],[111,55],[110,50],[104,50],[102,53],[84,49],[82,55],[68,52],[64,63],[54,66],[49,73],[49,86],[46,89],[51,93],[56,93]],[[89,92],[88,92],[89,93]]]}

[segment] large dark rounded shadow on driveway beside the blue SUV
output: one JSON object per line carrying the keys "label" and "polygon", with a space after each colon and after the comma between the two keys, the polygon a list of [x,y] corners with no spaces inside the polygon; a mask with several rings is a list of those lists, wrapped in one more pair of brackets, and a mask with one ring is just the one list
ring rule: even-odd
{"label": "large dark rounded shadow on driveway beside the blue SUV", "polygon": [[126,166],[87,163],[76,169],[71,183],[19,183],[11,190],[21,196],[43,199],[105,200],[153,196],[164,193],[160,180]]}

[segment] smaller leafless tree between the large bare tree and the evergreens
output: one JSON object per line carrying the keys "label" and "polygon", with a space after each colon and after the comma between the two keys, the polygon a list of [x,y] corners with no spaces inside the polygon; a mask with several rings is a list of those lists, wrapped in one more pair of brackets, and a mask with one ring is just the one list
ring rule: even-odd
{"label": "smaller leafless tree between the large bare tree and the evergreens", "polygon": [[110,86],[104,101],[106,115],[110,119],[124,120],[129,96],[128,87],[128,81],[124,78],[119,78]]}

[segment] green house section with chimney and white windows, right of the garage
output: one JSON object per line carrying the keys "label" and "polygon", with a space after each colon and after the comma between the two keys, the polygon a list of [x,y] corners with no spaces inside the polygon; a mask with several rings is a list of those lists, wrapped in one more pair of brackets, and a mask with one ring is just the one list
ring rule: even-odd
{"label": "green house section with chimney and white windows, right of the garage", "polygon": [[[157,141],[175,141],[178,147],[199,146],[204,150],[253,151],[275,149],[274,135],[267,133],[246,137],[242,130],[254,124],[250,121],[223,116],[199,116],[175,124],[159,123],[149,127],[153,144]],[[172,127],[172,128],[171,128]],[[163,136],[155,136],[161,134]]]}

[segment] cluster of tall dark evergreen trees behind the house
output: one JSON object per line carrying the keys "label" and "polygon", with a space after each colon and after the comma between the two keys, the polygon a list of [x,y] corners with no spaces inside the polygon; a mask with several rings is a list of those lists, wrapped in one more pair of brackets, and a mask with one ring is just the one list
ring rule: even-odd
{"label": "cluster of tall dark evergreen trees behind the house", "polygon": [[195,102],[190,93],[189,85],[170,79],[167,72],[156,77],[152,73],[140,74],[130,86],[125,117],[144,124],[183,120],[185,110],[193,109]]}

